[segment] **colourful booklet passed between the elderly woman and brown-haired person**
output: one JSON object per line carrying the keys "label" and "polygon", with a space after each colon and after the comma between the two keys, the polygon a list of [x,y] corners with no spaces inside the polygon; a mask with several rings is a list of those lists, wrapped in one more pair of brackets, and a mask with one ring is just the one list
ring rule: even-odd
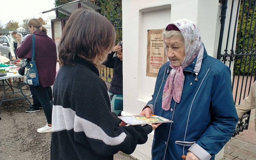
{"label": "colourful booklet passed between the elderly woman and brown-haired person", "polygon": [[155,124],[155,123],[172,123],[173,121],[161,116],[152,115],[150,118],[145,116],[119,116],[122,121],[130,125]]}

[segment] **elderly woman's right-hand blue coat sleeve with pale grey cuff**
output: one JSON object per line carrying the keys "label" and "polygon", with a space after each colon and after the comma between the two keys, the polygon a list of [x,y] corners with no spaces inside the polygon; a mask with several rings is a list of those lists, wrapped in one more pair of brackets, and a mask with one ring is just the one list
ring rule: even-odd
{"label": "elderly woman's right-hand blue coat sleeve with pale grey cuff", "polygon": [[215,78],[211,97],[212,124],[188,150],[201,160],[217,154],[233,135],[238,121],[234,105],[230,69],[225,68]]}

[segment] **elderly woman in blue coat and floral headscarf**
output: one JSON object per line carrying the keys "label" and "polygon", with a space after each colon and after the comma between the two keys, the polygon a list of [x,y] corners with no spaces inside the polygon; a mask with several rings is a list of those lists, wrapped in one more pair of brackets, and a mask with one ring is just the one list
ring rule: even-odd
{"label": "elderly woman in blue coat and floral headscarf", "polygon": [[164,27],[170,61],[159,70],[152,100],[141,112],[171,119],[155,130],[152,159],[213,160],[231,138],[238,117],[230,69],[207,55],[199,29],[190,20]]}

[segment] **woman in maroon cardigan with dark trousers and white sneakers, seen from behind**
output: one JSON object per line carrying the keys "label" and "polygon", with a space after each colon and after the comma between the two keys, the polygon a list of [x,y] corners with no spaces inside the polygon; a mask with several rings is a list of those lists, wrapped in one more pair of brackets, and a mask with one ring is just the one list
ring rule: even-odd
{"label": "woman in maroon cardigan with dark trousers and white sneakers, seen from behind", "polygon": [[[34,87],[38,99],[40,100],[47,124],[37,129],[39,133],[52,132],[52,105],[49,99],[48,91],[53,85],[56,74],[57,52],[53,40],[47,36],[46,28],[37,19],[31,19],[28,22],[28,28],[35,35],[35,59],[38,71],[40,85]],[[19,58],[31,59],[32,53],[32,35],[28,36],[22,45],[16,50]],[[33,86],[29,86],[30,88]],[[29,110],[33,110],[30,108]]]}

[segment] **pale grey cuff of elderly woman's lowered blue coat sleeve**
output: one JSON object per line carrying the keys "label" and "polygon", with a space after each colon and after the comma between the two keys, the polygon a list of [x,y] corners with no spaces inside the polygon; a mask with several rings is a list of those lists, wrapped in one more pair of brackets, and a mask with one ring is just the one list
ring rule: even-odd
{"label": "pale grey cuff of elderly woman's lowered blue coat sleeve", "polygon": [[200,160],[210,160],[212,158],[212,156],[206,150],[204,150],[204,148],[202,148],[196,143],[194,143],[190,148],[188,148],[188,151],[192,152]]}

